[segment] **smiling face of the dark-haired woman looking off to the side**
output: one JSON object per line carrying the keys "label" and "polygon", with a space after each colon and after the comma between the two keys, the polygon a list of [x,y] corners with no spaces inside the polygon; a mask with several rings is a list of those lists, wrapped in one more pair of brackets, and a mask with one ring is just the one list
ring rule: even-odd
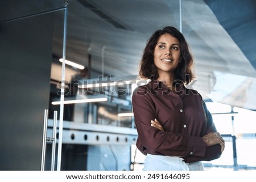
{"label": "smiling face of the dark-haired woman looking off to the side", "polygon": [[174,73],[180,62],[180,43],[169,33],[161,35],[154,49],[154,64],[158,69],[159,77],[162,74]]}

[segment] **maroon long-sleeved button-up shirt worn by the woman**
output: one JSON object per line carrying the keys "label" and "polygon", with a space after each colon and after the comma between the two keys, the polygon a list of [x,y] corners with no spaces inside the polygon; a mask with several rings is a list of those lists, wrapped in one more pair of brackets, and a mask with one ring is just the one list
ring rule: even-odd
{"label": "maroon long-sleeved button-up shirt worn by the woman", "polygon": [[[144,155],[180,156],[187,163],[220,157],[220,145],[207,147],[202,139],[216,128],[197,91],[181,85],[174,93],[162,82],[151,81],[133,92],[132,104],[137,147]],[[164,132],[150,125],[155,118]]]}

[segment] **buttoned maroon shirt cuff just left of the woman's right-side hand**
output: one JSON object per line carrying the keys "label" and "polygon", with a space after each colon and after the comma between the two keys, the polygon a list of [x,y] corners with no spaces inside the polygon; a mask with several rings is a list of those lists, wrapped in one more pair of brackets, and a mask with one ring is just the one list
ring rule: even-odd
{"label": "buttoned maroon shirt cuff just left of the woman's right-side hand", "polygon": [[186,156],[205,156],[207,146],[201,137],[189,136],[186,138],[188,141]]}

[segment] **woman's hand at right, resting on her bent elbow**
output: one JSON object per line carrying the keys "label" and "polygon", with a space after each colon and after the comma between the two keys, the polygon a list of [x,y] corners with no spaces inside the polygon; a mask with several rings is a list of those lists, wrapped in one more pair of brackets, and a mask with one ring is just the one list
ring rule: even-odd
{"label": "woman's hand at right, resting on her bent elbow", "polygon": [[205,135],[203,137],[203,140],[205,142],[205,144],[209,147],[209,146],[213,146],[216,144],[220,144],[221,146],[221,153],[224,151],[225,149],[225,141],[224,139],[221,137],[220,133],[218,132],[212,132],[212,133],[208,133],[207,135]]}

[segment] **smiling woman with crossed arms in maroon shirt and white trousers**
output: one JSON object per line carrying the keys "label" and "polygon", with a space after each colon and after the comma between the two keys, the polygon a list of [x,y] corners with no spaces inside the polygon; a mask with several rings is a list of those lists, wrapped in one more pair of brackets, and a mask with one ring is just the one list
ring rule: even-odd
{"label": "smiling woman with crossed arms in maroon shirt and white trousers", "polygon": [[204,170],[202,160],[220,157],[224,139],[201,95],[188,89],[193,59],[174,27],[147,41],[139,74],[151,79],[133,93],[137,147],[146,155],[143,170]]}

